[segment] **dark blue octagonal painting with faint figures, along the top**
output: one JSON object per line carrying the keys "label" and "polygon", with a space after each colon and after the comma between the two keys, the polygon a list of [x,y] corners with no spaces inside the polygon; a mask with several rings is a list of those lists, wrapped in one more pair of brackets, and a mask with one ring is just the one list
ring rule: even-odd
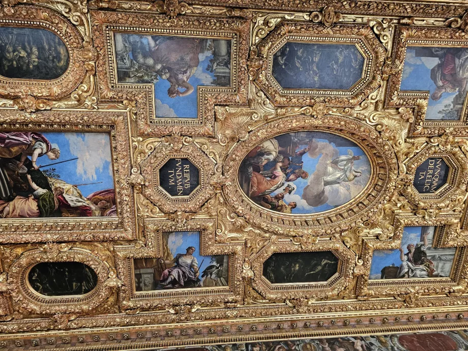
{"label": "dark blue octagonal painting with faint figures, along the top", "polygon": [[284,89],[348,90],[363,69],[356,45],[287,42],[273,55],[272,74]]}

